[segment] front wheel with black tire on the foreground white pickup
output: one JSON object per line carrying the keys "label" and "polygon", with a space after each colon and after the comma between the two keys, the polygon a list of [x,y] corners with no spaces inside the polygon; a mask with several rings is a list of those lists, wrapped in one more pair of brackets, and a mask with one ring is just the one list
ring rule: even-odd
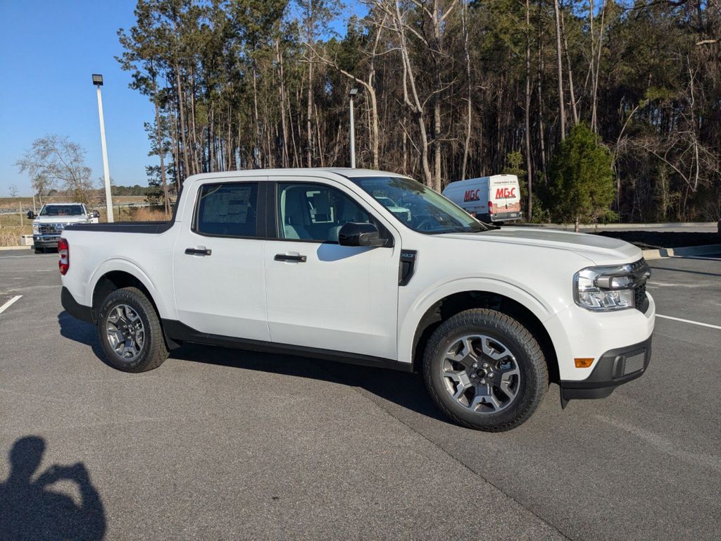
{"label": "front wheel with black tire on the foreground white pickup", "polygon": [[546,360],[534,336],[490,309],[466,310],[438,326],[425,348],[423,378],[448,418],[488,432],[516,428],[548,390]]}

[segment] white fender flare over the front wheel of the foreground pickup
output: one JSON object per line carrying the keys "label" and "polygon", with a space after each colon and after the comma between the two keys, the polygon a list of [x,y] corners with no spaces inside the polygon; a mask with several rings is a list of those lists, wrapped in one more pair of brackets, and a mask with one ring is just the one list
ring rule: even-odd
{"label": "white fender flare over the front wheel of the foreground pickup", "polygon": [[[445,299],[447,296],[468,291],[483,291],[513,299],[533,313],[542,324],[555,315],[552,307],[543,302],[540,296],[536,296],[514,283],[499,278],[459,278],[446,283],[434,284],[417,296],[417,300],[410,306],[399,326],[398,360],[400,362],[412,363],[415,333],[425,312],[428,312],[428,309],[433,304]],[[549,327],[547,325],[544,325],[544,327],[546,327],[552,342],[555,344],[556,339],[550,332]]]}

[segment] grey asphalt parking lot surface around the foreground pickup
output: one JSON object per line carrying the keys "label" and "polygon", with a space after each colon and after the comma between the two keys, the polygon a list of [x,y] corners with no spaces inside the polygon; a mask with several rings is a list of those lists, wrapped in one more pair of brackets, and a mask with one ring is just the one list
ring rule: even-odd
{"label": "grey asphalt parking lot surface around the foreground pickup", "polygon": [[[412,374],[200,346],[115,371],[63,312],[57,255],[0,252],[0,307],[20,296],[0,314],[0,538],[718,539],[721,255],[650,265],[677,319],[647,373],[565,410],[552,385],[485,434]],[[42,472],[50,496],[28,488]]]}

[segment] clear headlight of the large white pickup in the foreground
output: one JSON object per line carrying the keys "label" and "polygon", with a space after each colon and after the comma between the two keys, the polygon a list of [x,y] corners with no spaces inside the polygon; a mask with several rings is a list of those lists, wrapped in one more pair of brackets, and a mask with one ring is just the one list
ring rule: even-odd
{"label": "clear headlight of the large white pickup in the foreground", "polygon": [[630,265],[584,268],[573,276],[573,300],[593,312],[634,308],[634,286]]}

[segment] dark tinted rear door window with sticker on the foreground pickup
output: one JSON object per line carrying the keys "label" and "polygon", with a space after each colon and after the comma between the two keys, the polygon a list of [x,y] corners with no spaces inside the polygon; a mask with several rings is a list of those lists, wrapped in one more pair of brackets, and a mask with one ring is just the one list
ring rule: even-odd
{"label": "dark tinted rear door window with sticker on the foreground pickup", "polygon": [[255,237],[257,182],[205,184],[200,188],[195,232],[218,237]]}

